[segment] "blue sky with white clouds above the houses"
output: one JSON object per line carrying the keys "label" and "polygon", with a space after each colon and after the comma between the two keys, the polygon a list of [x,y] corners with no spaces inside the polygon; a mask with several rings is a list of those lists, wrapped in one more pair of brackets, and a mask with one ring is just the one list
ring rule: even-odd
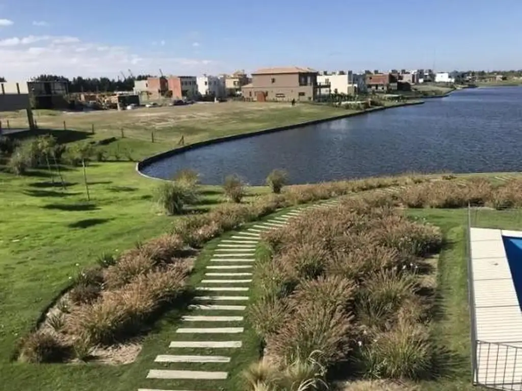
{"label": "blue sky with white clouds above the houses", "polygon": [[520,69],[521,15],[522,0],[0,0],[0,76]]}

